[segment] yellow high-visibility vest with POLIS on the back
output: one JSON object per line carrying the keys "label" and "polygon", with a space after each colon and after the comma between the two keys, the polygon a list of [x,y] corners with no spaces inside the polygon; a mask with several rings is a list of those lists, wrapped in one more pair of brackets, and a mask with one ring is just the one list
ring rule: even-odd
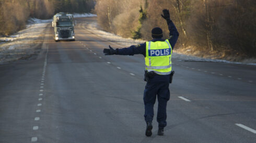
{"label": "yellow high-visibility vest with POLIS on the back", "polygon": [[146,42],[146,70],[154,71],[159,75],[171,74],[171,54],[172,48],[168,39]]}

